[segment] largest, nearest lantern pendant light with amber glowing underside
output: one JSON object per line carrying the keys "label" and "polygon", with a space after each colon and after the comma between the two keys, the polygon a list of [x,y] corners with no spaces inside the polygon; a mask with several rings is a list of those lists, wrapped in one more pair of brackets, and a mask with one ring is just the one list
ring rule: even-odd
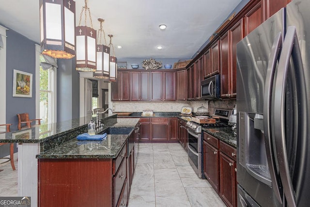
{"label": "largest, nearest lantern pendant light with amber glowing underside", "polygon": [[76,55],[75,11],[74,0],[40,0],[42,54],[61,59]]}

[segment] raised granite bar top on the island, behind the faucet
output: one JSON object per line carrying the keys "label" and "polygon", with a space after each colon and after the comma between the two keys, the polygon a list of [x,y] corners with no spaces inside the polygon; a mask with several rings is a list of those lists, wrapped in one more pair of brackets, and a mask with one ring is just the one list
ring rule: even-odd
{"label": "raised granite bar top on the island, behind the faucet", "polygon": [[[105,120],[117,117],[116,114],[99,114],[99,119]],[[93,117],[95,120],[96,117]],[[86,121],[87,120],[87,121]],[[85,117],[53,124],[42,124],[35,127],[0,134],[0,143],[44,143],[64,134],[74,131],[87,131],[88,119]],[[106,124],[105,124],[106,125]],[[106,125],[106,126],[109,126]]]}

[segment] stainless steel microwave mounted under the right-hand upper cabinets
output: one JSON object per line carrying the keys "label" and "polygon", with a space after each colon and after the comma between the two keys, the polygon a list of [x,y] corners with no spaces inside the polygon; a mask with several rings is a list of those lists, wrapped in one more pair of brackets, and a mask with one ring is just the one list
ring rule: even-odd
{"label": "stainless steel microwave mounted under the right-hand upper cabinets", "polygon": [[201,97],[204,99],[220,98],[219,74],[201,81]]}

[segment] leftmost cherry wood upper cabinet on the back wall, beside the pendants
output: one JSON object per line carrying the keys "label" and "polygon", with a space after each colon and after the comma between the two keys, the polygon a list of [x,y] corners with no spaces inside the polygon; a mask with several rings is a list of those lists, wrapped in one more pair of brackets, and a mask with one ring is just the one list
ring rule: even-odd
{"label": "leftmost cherry wood upper cabinet on the back wall, beside the pendants", "polygon": [[112,101],[129,101],[130,100],[130,72],[117,72],[116,82],[111,84]]}

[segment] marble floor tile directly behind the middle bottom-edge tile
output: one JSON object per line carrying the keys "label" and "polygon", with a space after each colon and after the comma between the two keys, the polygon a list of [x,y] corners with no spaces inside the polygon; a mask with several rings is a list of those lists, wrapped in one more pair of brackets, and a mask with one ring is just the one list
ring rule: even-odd
{"label": "marble floor tile directly behind the middle bottom-edge tile", "polygon": [[156,196],[187,196],[181,180],[155,181]]}

